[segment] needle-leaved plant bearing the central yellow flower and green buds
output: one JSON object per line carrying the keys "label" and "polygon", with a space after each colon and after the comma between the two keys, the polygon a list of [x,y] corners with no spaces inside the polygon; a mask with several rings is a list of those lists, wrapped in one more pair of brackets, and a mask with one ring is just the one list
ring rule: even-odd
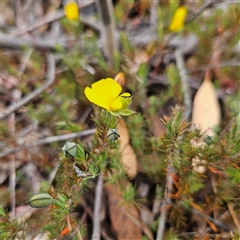
{"label": "needle-leaved plant bearing the central yellow flower and green buds", "polygon": [[86,229],[76,224],[73,207],[77,198],[88,187],[88,180],[98,176],[95,190],[92,239],[100,239],[100,211],[104,177],[107,176],[110,155],[116,148],[119,134],[117,119],[133,113],[129,106],[131,95],[122,93],[121,85],[114,79],[107,78],[86,87],[87,99],[97,108],[92,117],[96,126],[91,149],[84,149],[81,142],[66,142],[62,148],[63,159],[59,165],[57,186],[48,185],[41,188],[40,193],[33,196],[27,203],[33,208],[50,207],[51,220],[45,230],[52,238],[71,234],[82,239]]}

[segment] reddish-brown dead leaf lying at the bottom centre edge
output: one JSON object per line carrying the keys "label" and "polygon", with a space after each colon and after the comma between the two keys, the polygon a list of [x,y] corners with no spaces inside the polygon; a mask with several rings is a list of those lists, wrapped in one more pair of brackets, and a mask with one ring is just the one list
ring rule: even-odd
{"label": "reddish-brown dead leaf lying at the bottom centre edge", "polygon": [[[140,218],[138,209],[132,205],[124,210],[124,206],[120,206],[124,201],[122,193],[118,191],[116,187],[107,185],[106,193],[108,195],[108,206],[112,227],[117,233],[117,239],[141,239],[142,228],[134,220],[134,218]],[[134,216],[134,218],[131,216]]]}

